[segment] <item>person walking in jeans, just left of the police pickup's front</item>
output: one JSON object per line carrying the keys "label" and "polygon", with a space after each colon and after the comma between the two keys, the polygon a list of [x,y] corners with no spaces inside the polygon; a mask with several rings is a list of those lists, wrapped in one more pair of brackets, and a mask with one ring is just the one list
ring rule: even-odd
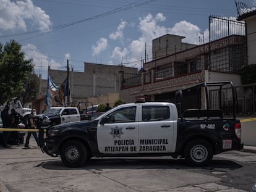
{"label": "person walking in jeans, just left of the police pickup's front", "polygon": [[[31,111],[31,114],[28,116],[28,128],[30,128],[30,129],[33,129],[33,128],[36,129],[35,120],[34,120],[35,115],[36,115],[36,110],[35,110],[35,108],[33,108],[32,111]],[[25,149],[30,149],[30,146],[28,146],[28,144],[29,144],[29,140],[30,140],[31,135],[34,136],[37,146],[40,146],[38,136],[36,135],[36,132],[28,131],[27,138],[26,138],[26,141],[25,141],[25,146],[24,146]]]}

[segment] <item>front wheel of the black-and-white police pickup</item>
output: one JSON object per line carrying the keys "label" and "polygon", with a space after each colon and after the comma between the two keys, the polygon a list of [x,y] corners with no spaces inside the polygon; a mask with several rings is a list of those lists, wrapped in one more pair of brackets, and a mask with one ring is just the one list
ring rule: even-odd
{"label": "front wheel of the black-and-white police pickup", "polygon": [[81,167],[88,158],[87,148],[80,141],[70,140],[61,147],[61,161],[67,167]]}

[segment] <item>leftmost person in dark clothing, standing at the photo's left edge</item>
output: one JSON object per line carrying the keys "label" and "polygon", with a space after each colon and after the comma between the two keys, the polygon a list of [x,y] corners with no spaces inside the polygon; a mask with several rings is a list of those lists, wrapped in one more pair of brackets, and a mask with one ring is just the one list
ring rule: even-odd
{"label": "leftmost person in dark clothing, standing at the photo's left edge", "polygon": [[[10,107],[5,106],[4,110],[1,112],[1,118],[2,118],[2,128],[11,128],[12,123],[14,122],[14,119],[12,119],[11,115],[9,115]],[[11,148],[9,144],[7,144],[7,141],[9,139],[10,131],[3,131],[2,133],[2,146],[4,148]]]}

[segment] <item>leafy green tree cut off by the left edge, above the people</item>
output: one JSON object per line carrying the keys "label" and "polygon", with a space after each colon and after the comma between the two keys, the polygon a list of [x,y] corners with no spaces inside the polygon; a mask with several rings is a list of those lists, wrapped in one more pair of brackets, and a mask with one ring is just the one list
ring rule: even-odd
{"label": "leafy green tree cut off by the left edge, above the people", "polygon": [[0,104],[20,96],[25,91],[23,83],[32,72],[32,59],[25,59],[19,43],[11,40],[3,49],[0,43]]}

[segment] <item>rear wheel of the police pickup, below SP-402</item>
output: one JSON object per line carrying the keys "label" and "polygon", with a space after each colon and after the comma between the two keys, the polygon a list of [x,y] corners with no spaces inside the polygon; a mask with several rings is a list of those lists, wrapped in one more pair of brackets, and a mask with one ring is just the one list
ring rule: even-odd
{"label": "rear wheel of the police pickup, below SP-402", "polygon": [[213,148],[208,141],[192,140],[185,148],[184,157],[189,165],[205,166],[213,158]]}

